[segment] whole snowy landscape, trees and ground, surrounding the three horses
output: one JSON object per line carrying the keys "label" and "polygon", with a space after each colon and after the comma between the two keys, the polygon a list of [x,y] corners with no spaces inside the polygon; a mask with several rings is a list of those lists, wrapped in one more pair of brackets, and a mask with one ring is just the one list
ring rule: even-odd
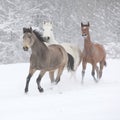
{"label": "whole snowy landscape, trees and ground, surrounding the three horses", "polygon": [[[24,93],[30,52],[22,49],[23,27],[43,31],[43,21],[53,22],[59,42],[83,48],[81,22],[90,22],[94,42],[103,44],[107,67],[96,84],[87,64],[76,78],[64,70],[58,85],[48,73],[36,84],[37,71]],[[0,120],[120,120],[120,1],[119,0],[1,0],[0,1]]]}

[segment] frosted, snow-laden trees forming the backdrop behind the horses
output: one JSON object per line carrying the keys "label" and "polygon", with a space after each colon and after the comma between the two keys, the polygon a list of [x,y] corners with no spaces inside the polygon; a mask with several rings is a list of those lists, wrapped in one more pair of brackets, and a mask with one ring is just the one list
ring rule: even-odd
{"label": "frosted, snow-laden trees forming the backdrop behind the horses", "polygon": [[105,44],[109,57],[120,58],[116,55],[120,52],[120,47],[116,48],[120,46],[119,0],[1,0],[0,55],[4,60],[1,58],[0,63],[27,61],[28,55],[21,49],[22,28],[41,30],[44,20],[53,21],[59,42],[73,43],[81,43],[80,23],[89,21],[93,41]]}

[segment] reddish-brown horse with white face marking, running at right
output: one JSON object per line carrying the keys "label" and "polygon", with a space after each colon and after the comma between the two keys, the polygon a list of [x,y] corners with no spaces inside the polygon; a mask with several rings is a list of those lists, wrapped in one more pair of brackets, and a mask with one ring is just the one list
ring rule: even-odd
{"label": "reddish-brown horse with white face marking, running at right", "polygon": [[[106,66],[106,52],[102,45],[95,44],[90,40],[89,33],[90,24],[81,23],[82,36],[84,37],[84,50],[83,50],[83,60],[82,60],[82,83],[85,75],[86,64],[92,64],[92,76],[95,82],[98,82],[98,79],[102,77],[103,66]],[[100,64],[100,70],[97,66],[97,63]],[[95,70],[97,72],[97,79],[95,78]]]}

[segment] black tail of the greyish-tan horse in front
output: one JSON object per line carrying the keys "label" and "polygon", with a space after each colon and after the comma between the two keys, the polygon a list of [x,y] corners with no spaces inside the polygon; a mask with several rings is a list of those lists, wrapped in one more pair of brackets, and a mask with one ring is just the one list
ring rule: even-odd
{"label": "black tail of the greyish-tan horse in front", "polygon": [[68,71],[74,71],[74,58],[69,53],[67,53],[67,55],[68,55],[67,69]]}

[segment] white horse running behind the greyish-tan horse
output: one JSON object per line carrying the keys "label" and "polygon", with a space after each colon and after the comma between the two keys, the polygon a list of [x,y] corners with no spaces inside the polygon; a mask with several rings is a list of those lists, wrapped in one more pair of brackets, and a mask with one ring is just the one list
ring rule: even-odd
{"label": "white horse running behind the greyish-tan horse", "polygon": [[53,23],[52,22],[43,22],[43,37],[46,38],[48,45],[50,44],[60,44],[64,49],[69,53],[74,59],[74,71],[77,70],[78,66],[82,60],[82,52],[77,45],[71,43],[59,43],[55,40],[53,34]]}

